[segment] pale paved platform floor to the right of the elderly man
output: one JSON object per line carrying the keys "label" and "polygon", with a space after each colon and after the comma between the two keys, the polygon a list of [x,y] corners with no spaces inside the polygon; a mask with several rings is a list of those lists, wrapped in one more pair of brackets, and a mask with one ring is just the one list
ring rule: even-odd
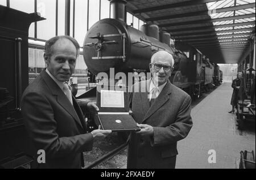
{"label": "pale paved platform floor to the right of the elderly man", "polygon": [[[239,167],[240,151],[255,152],[254,130],[240,131],[232,109],[231,83],[223,83],[191,111],[193,127],[187,138],[177,143],[176,168],[230,168]],[[208,158],[216,152],[216,163]]]}

